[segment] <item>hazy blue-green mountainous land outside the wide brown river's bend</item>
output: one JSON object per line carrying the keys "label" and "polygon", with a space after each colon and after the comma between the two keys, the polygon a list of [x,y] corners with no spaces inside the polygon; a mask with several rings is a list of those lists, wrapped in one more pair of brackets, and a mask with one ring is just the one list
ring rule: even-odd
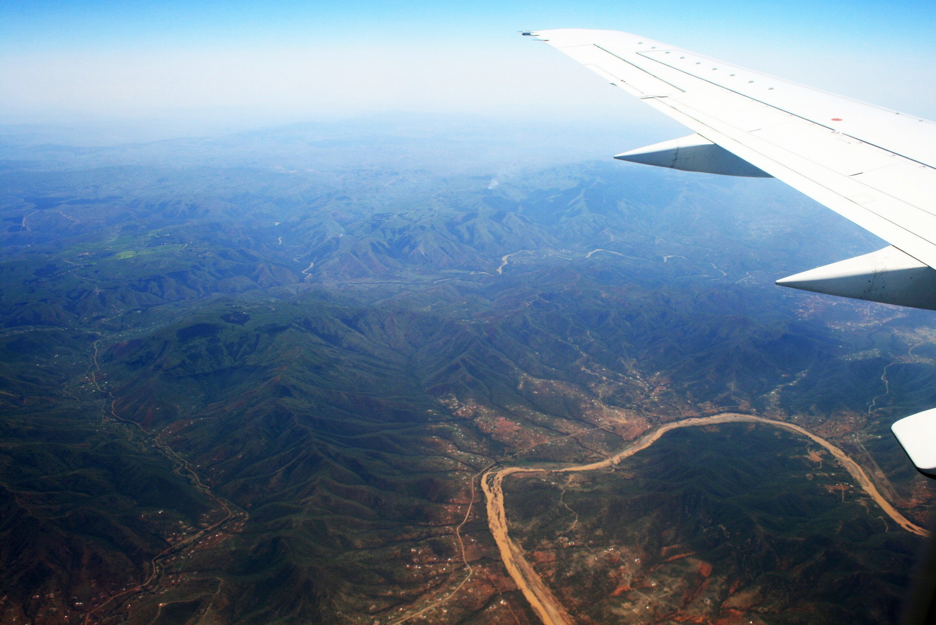
{"label": "hazy blue-green mountainous land outside the wide brown river's bend", "polygon": [[[10,150],[0,622],[387,625],[465,578],[479,470],[721,407],[814,428],[925,519],[886,427],[936,405],[930,313],[772,286],[863,233],[770,181],[492,175],[433,162],[446,138],[372,140]],[[474,573],[425,617],[534,622],[476,502]]]}

